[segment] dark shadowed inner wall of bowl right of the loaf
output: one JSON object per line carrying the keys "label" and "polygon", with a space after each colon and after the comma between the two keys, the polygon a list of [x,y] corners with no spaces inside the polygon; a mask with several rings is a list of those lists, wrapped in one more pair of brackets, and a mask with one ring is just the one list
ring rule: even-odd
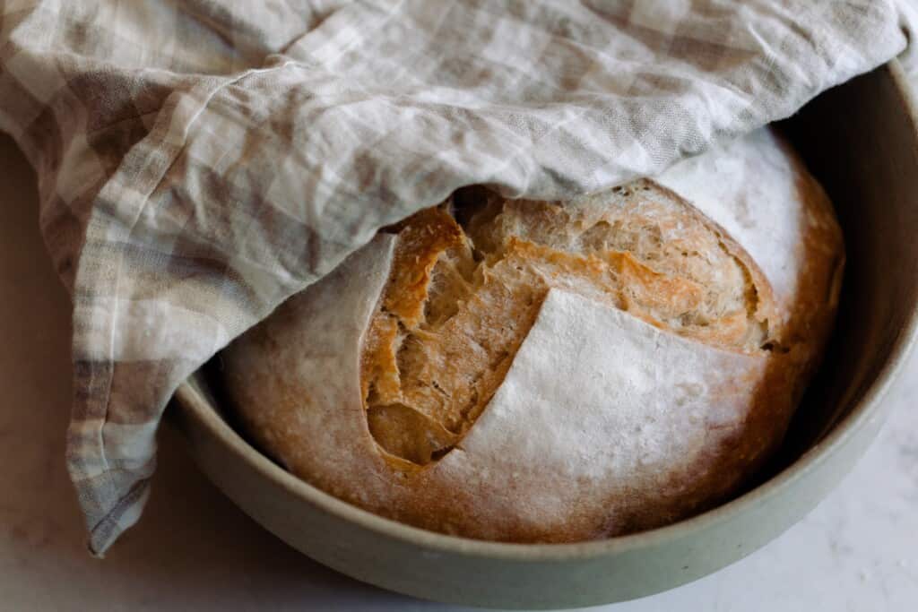
{"label": "dark shadowed inner wall of bowl right of the loaf", "polygon": [[[786,469],[842,427],[884,371],[901,361],[915,334],[916,116],[898,64],[888,70],[892,78],[869,74],[836,87],[782,124],[832,198],[845,233],[846,262],[822,366],[762,478]],[[885,98],[900,98],[904,112],[871,104]]]}

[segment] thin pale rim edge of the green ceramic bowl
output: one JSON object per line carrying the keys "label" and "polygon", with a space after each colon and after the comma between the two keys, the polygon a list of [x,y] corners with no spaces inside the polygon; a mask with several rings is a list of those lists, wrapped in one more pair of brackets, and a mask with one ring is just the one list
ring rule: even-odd
{"label": "thin pale rim edge of the green ceramic bowl", "polygon": [[[898,60],[892,60],[880,66],[879,70],[890,72],[901,96],[912,133],[918,137],[918,99],[912,94],[908,77]],[[901,372],[904,362],[914,346],[918,344],[918,308],[912,312],[897,338],[890,347],[888,359],[879,369],[873,384],[870,384],[857,406],[845,417],[834,424],[834,427],[812,448],[805,451],[797,461],[791,463],[780,473],[769,478],[765,483],[740,495],[729,502],[701,513],[695,517],[680,520],[671,525],[649,529],[638,533],[617,536],[605,540],[589,540],[572,543],[513,543],[488,540],[474,540],[412,527],[396,520],[380,517],[363,508],[352,506],[319,488],[300,480],[292,473],[286,472],[244,440],[229,424],[218,417],[218,414],[207,405],[204,398],[187,382],[179,385],[175,392],[176,403],[185,409],[196,424],[205,428],[229,451],[240,455],[250,463],[253,469],[284,488],[291,495],[296,495],[320,510],[353,523],[363,529],[391,540],[419,546],[430,551],[441,551],[465,554],[468,556],[487,557],[491,559],[515,561],[553,562],[569,559],[585,560],[620,554],[626,551],[650,548],[666,541],[680,540],[693,533],[711,529],[718,524],[729,522],[732,517],[762,503],[764,500],[780,494],[782,489],[812,473],[832,457],[840,447],[845,445],[857,429],[865,422],[877,417],[880,403],[890,389],[890,385]]]}

